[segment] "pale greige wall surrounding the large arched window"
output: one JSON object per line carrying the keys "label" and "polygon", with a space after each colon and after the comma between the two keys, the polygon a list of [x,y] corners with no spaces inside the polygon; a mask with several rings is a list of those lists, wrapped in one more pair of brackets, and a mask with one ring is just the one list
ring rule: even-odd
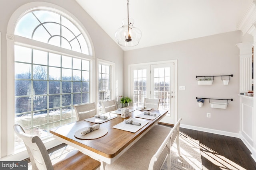
{"label": "pale greige wall surrounding the large arched window", "polygon": [[[104,59],[116,63],[116,96],[123,94],[123,51],[122,49],[102,30],[102,28],[77,4],[75,0],[40,0],[58,5],[65,10],[68,10],[73,14],[89,33],[94,46],[94,56],[99,59]],[[2,116],[1,116],[1,149],[2,157],[7,155],[8,141],[7,135],[7,103],[6,96],[8,95],[6,80],[8,78],[6,74],[7,65],[7,52],[6,52],[6,29],[8,21],[11,15],[20,6],[29,3],[36,2],[36,0],[2,0],[0,1],[0,32],[2,32]],[[1,114],[0,114],[1,115]],[[1,128],[0,128],[1,129]],[[0,155],[1,158],[1,155]]]}

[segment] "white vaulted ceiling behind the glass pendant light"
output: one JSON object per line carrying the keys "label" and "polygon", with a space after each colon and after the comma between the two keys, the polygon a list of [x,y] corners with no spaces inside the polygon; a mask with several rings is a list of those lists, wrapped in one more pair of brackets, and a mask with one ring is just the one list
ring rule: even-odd
{"label": "white vaulted ceiling behind the glass pendant light", "polygon": [[[76,0],[115,41],[127,18],[127,0]],[[129,17],[142,31],[135,47],[150,47],[235,31],[252,0],[129,0]]]}

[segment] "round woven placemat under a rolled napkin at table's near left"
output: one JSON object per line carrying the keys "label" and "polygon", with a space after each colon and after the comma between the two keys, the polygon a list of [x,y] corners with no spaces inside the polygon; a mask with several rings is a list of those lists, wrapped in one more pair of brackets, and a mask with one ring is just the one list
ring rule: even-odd
{"label": "round woven placemat under a rolled napkin at table's near left", "polygon": [[99,129],[94,130],[90,133],[87,133],[86,135],[82,135],[81,132],[86,129],[88,129],[88,127],[79,129],[78,131],[76,131],[74,136],[78,139],[97,139],[97,138],[103,137],[104,135],[106,135],[108,133],[108,128],[100,127]]}

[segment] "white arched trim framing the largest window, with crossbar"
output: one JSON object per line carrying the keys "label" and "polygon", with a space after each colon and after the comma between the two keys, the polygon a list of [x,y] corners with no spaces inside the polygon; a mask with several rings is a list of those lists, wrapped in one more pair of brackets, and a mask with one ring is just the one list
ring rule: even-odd
{"label": "white arched trim framing the largest window, with crossbar", "polygon": [[[63,49],[61,47],[57,47],[54,45],[42,43],[39,41],[35,41],[33,39],[28,39],[24,37],[20,37],[18,35],[14,35],[14,29],[16,26],[17,21],[22,17],[25,13],[31,12],[33,10],[49,10],[56,12],[62,16],[65,16],[68,18],[68,20],[72,21],[74,25],[78,27],[78,29],[81,31],[83,34],[86,42],[88,43],[88,51],[89,55],[79,53],[76,51],[68,50],[68,49]],[[88,59],[90,60],[90,101],[95,101],[95,87],[92,86],[92,84],[95,84],[95,76],[94,76],[94,69],[95,69],[95,57],[94,57],[94,47],[92,40],[86,31],[85,27],[82,25],[82,23],[70,12],[65,10],[64,8],[61,8],[60,6],[48,3],[48,2],[30,2],[28,4],[25,4],[18,8],[11,16],[8,27],[7,27],[7,33],[6,33],[6,40],[7,40],[7,108],[6,109],[6,117],[7,117],[7,122],[4,123],[4,127],[6,128],[6,131],[3,132],[4,136],[7,137],[8,141],[8,147],[7,147],[7,155],[11,154],[18,154],[22,152],[22,155],[27,155],[26,149],[24,147],[20,148],[20,150],[14,150],[14,131],[12,129],[12,126],[14,125],[14,95],[15,95],[15,72],[14,72],[14,45],[22,45],[24,47],[29,47],[33,49],[39,49],[43,51],[48,51],[51,53],[58,53],[60,55],[68,55],[70,57],[75,57],[79,59]],[[49,50],[50,49],[50,50]],[[8,134],[8,135],[7,135]],[[46,146],[46,149],[50,149],[56,145],[59,145],[61,142],[53,139],[53,138],[47,138],[43,139],[44,144]],[[15,153],[14,153],[15,151]]]}

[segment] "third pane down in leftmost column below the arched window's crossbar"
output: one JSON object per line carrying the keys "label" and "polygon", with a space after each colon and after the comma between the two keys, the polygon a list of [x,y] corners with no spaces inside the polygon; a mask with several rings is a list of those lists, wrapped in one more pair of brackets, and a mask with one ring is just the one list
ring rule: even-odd
{"label": "third pane down in leftmost column below the arched window's crossbar", "polygon": [[15,80],[15,96],[32,95],[31,80]]}

